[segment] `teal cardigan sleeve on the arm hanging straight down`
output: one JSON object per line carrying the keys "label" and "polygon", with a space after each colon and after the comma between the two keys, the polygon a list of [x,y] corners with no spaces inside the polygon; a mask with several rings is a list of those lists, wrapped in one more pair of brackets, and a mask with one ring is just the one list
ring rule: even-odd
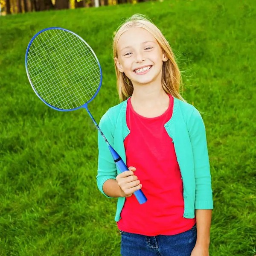
{"label": "teal cardigan sleeve on the arm hanging straight down", "polygon": [[213,209],[211,174],[204,121],[194,108],[189,119],[195,172],[195,209]]}

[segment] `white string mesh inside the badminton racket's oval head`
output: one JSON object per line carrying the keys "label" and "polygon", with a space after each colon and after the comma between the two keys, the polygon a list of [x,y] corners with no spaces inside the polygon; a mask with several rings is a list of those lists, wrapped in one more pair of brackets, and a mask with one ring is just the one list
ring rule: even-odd
{"label": "white string mesh inside the badminton racket's oval head", "polygon": [[101,72],[98,61],[79,37],[64,30],[52,30],[55,35],[48,33],[49,30],[42,32],[44,35],[36,38],[29,49],[28,69],[32,83],[41,98],[50,105],[62,109],[72,109],[74,105],[79,107],[85,103],[84,98],[88,102],[99,87]]}

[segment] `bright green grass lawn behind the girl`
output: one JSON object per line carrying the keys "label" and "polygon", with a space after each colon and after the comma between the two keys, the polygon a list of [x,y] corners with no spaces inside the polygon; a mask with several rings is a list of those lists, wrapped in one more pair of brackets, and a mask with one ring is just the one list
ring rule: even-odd
{"label": "bright green grass lawn behind the girl", "polygon": [[70,29],[103,70],[89,108],[118,103],[111,39],[134,13],[163,31],[183,73],[183,97],[204,113],[214,210],[211,256],[256,254],[255,49],[253,0],[173,0],[0,17],[0,255],[119,255],[116,199],[97,189],[97,131],[86,111],[44,105],[26,77],[32,36]]}

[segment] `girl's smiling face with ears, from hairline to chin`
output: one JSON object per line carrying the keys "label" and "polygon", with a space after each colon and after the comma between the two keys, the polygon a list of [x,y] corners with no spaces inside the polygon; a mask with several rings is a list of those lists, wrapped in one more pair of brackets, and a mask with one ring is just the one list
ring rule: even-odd
{"label": "girl's smiling face with ears, from hairline to chin", "polygon": [[132,81],[133,86],[162,83],[163,54],[157,40],[146,29],[131,27],[117,44],[116,67]]}

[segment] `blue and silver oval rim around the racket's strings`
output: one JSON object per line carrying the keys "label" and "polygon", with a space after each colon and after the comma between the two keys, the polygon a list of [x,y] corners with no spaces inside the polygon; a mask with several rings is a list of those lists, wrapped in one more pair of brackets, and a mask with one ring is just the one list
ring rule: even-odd
{"label": "blue and silver oval rim around the racket's strings", "polygon": [[[62,31],[62,32],[66,32],[66,33],[70,33],[69,35],[73,35],[74,37],[78,38],[80,40],[80,42],[82,42],[84,44],[84,47],[85,49],[88,49],[91,53],[91,56],[93,56],[93,61],[94,61],[94,66],[96,67],[97,66],[97,83],[98,83],[98,87],[94,86],[94,90],[93,90],[93,93],[90,92],[90,97],[86,97],[86,100],[84,100],[84,102],[81,103],[81,100],[80,100],[80,104],[76,104],[76,106],[70,108],[70,107],[60,107],[56,104],[51,104],[49,103],[48,100],[45,99],[44,96],[42,96],[42,93],[38,92],[38,86],[36,85],[36,82],[33,81],[33,78],[32,78],[32,75],[31,75],[31,67],[30,67],[30,63],[29,63],[29,54],[30,54],[30,51],[32,50],[32,45],[33,43],[35,42],[35,40],[37,40],[41,33],[44,33],[44,32],[47,32],[47,31]],[[40,40],[40,38],[39,38]],[[70,45],[69,45],[70,47]],[[64,29],[64,28],[61,28],[61,27],[49,27],[49,28],[46,28],[46,29],[42,29],[41,31],[37,32],[33,37],[32,39],[30,40],[29,44],[28,44],[28,47],[26,49],[26,54],[25,54],[25,67],[26,67],[26,73],[27,73],[27,76],[28,76],[28,79],[29,79],[29,83],[31,84],[32,86],[32,89],[34,90],[35,94],[38,96],[39,99],[41,99],[42,102],[44,102],[47,106],[49,106],[50,108],[53,108],[55,110],[58,110],[58,111],[73,111],[73,110],[77,110],[79,108],[84,108],[87,106],[87,104],[89,102],[91,102],[95,97],[96,95],[98,94],[99,90],[100,90],[100,87],[102,85],[102,68],[99,64],[99,60],[95,54],[95,52],[93,52],[93,49],[90,47],[89,44],[87,44],[86,41],[84,41],[83,38],[81,38],[79,35],[75,34],[74,32],[68,30],[68,29]],[[91,78],[91,79],[94,79]]]}

